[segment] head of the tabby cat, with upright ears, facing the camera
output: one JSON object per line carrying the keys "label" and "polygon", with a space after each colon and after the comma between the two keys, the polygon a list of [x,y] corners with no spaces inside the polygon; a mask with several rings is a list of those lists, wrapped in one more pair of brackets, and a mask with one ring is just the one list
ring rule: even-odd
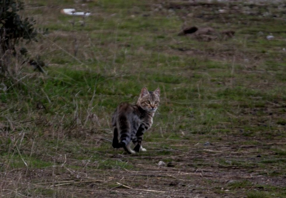
{"label": "head of the tabby cat, with upright ears, facing the camera", "polygon": [[148,91],[146,87],[143,87],[140,96],[137,101],[142,109],[154,113],[160,103],[160,88],[155,91]]}

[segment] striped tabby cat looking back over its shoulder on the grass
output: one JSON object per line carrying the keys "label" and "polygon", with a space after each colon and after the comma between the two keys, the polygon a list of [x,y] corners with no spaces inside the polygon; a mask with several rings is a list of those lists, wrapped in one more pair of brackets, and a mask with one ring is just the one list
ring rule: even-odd
{"label": "striped tabby cat looking back over its shoulder on the grass", "polygon": [[[116,108],[112,116],[113,148],[123,147],[129,154],[146,151],[142,147],[142,137],[153,123],[153,116],[160,102],[159,97],[160,88],[148,91],[143,87],[136,105],[122,103]],[[130,148],[131,141],[135,145],[133,150]]]}

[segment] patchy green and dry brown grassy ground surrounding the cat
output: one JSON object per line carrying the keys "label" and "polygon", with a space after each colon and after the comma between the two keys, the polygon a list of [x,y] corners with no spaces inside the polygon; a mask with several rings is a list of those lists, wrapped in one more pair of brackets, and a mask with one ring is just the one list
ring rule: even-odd
{"label": "patchy green and dry brown grassy ground surrounding the cat", "polygon": [[[285,197],[285,8],[29,4],[23,14],[49,34],[25,45],[28,57],[48,67],[41,74],[23,64],[17,83],[1,79],[0,196]],[[60,13],[68,7],[93,15]],[[184,21],[212,27],[217,39],[178,36]],[[219,33],[228,29],[234,37]],[[160,87],[161,104],[144,135],[147,152],[128,155],[111,146],[111,117],[143,86]]]}

